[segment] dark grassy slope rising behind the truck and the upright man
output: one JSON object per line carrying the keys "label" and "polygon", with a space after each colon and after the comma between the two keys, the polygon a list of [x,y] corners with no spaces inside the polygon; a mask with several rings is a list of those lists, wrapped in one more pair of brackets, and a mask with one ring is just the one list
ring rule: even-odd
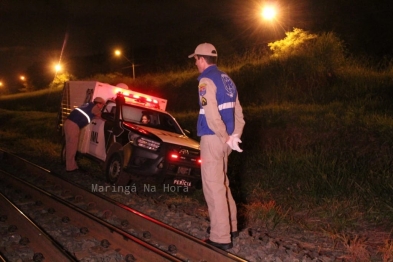
{"label": "dark grassy slope rising behind the truck and the upright man", "polygon": [[[329,232],[389,225],[393,73],[356,63],[313,73],[302,67],[307,63],[292,57],[226,68],[247,123],[244,152],[231,154],[229,167],[245,219],[272,226],[292,221]],[[137,91],[167,98],[168,110],[195,134],[196,76],[166,73],[134,84]],[[24,110],[0,110],[1,146],[56,160],[59,94],[0,98],[0,107]]]}

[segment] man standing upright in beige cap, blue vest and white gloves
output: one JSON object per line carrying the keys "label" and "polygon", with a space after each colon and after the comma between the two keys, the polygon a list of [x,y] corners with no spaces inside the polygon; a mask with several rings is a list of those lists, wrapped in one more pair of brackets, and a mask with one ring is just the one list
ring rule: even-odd
{"label": "man standing upright in beige cap, blue vest and white gloves", "polygon": [[209,43],[188,56],[195,59],[200,76],[197,135],[201,137],[202,185],[209,210],[207,243],[227,250],[239,235],[237,209],[227,177],[228,155],[242,152],[239,143],[245,125],[243,110],[232,79],[217,67],[217,50]]}

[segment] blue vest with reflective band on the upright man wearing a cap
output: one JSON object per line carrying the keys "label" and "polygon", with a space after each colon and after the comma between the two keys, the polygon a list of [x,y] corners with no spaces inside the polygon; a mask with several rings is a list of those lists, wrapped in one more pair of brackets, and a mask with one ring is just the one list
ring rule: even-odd
{"label": "blue vest with reflective band on the upright man wearing a cap", "polygon": [[210,88],[210,90],[214,90],[214,86],[211,87],[211,82],[204,81],[204,78],[212,80],[213,84],[216,86],[215,99],[217,101],[218,111],[226,127],[227,134],[232,135],[235,130],[236,85],[232,79],[226,73],[220,71],[216,65],[209,66],[198,77],[200,110],[197,123],[197,135],[215,134],[207,124],[204,110],[204,107],[211,103],[209,100],[214,99],[211,96],[209,97],[209,90],[207,89]]}

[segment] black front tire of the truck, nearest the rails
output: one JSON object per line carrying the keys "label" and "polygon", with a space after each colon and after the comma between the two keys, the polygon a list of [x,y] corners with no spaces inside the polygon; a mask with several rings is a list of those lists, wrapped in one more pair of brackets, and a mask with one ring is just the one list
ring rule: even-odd
{"label": "black front tire of the truck, nearest the rails", "polygon": [[123,171],[122,163],[123,158],[119,153],[111,156],[106,169],[106,178],[110,184],[126,186],[129,183],[129,175]]}

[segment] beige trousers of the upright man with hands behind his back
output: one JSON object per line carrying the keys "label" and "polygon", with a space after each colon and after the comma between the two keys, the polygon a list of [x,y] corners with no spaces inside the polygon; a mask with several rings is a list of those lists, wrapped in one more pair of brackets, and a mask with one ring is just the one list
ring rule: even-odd
{"label": "beige trousers of the upright man with hands behind his back", "polygon": [[237,231],[237,209],[227,177],[231,148],[216,135],[201,137],[203,194],[209,209],[210,240],[230,243]]}

